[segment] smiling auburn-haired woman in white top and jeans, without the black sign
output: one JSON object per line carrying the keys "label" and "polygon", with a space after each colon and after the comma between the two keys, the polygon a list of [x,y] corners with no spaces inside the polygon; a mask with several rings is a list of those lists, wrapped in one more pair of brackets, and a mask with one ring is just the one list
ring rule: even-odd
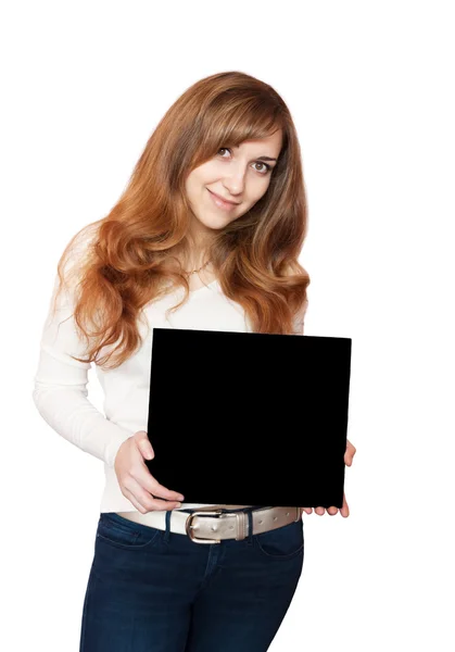
{"label": "smiling auburn-haired woman in white top and jeans, without the black sign", "polygon": [[[261,652],[274,639],[312,509],[186,503],[150,474],[151,342],[154,327],[303,334],[306,226],[287,105],[267,84],[226,72],[170,106],[116,205],[65,248],[34,400],[56,432],[104,462],[83,652]],[[87,399],[91,363],[105,416]]]}

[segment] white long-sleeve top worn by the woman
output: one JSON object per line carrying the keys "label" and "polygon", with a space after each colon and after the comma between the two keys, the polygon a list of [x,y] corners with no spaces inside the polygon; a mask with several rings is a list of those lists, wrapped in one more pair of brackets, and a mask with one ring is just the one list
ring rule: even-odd
{"label": "white long-sleeve top worn by the woman", "polygon": [[[39,363],[34,377],[33,399],[42,418],[59,435],[104,463],[104,489],[101,512],[136,512],[123,496],[114,471],[115,455],[128,437],[148,428],[149,388],[153,328],[193,328],[251,333],[244,310],[228,299],[217,280],[190,292],[187,303],[166,318],[166,309],[184,297],[184,289],[150,302],[143,309],[144,321],[138,319],[143,343],[115,369],[94,364],[104,393],[102,414],[88,399],[88,372],[83,342],[75,329],[73,302],[68,292],[59,299],[58,311],[51,305],[42,327]],[[303,333],[303,318],[296,318],[295,333]],[[101,353],[103,353],[103,350]],[[172,487],[170,487],[172,489]],[[206,506],[208,503],[182,502],[180,509]]]}

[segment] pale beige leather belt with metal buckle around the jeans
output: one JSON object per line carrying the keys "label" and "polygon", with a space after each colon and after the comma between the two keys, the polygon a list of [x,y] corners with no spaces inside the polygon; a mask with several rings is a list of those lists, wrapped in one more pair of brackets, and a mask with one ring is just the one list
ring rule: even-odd
{"label": "pale beige leather belt with metal buckle around the jeans", "polygon": [[[226,507],[225,507],[226,509]],[[119,516],[166,529],[167,511],[116,512]],[[252,510],[253,535],[267,532],[302,518],[302,507],[257,507]],[[169,530],[187,535],[195,543],[220,543],[223,539],[241,541],[249,536],[247,512],[223,512],[223,509],[199,507],[191,513],[172,510]]]}

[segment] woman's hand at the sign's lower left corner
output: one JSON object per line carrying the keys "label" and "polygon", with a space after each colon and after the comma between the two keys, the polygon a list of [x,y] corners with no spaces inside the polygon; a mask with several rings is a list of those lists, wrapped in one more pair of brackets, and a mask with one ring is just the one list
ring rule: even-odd
{"label": "woman's hand at the sign's lower left corner", "polygon": [[174,510],[180,506],[178,501],[185,498],[177,491],[166,489],[152,476],[144,460],[154,456],[146,430],[128,437],[115,455],[114,469],[122,493],[142,514],[154,510]]}

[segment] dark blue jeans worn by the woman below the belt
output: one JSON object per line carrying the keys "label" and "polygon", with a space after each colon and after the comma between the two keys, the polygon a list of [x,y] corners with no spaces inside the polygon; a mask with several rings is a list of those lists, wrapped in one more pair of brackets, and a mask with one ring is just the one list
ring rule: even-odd
{"label": "dark blue jeans worn by the woman below the belt", "polygon": [[[303,522],[195,543],[115,513],[98,522],[80,652],[264,652],[303,567]],[[187,510],[188,513],[197,510]],[[295,649],[302,648],[301,641]]]}

